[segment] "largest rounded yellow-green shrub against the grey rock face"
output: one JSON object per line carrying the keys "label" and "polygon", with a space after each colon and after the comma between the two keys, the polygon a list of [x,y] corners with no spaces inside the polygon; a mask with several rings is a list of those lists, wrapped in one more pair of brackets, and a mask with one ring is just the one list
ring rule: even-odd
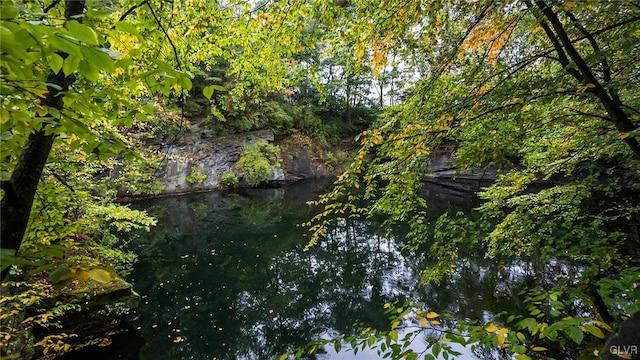
{"label": "largest rounded yellow-green shrub against the grey rock face", "polygon": [[251,186],[256,186],[269,179],[271,167],[281,167],[280,148],[258,141],[242,150],[238,168],[244,172],[244,179]]}

